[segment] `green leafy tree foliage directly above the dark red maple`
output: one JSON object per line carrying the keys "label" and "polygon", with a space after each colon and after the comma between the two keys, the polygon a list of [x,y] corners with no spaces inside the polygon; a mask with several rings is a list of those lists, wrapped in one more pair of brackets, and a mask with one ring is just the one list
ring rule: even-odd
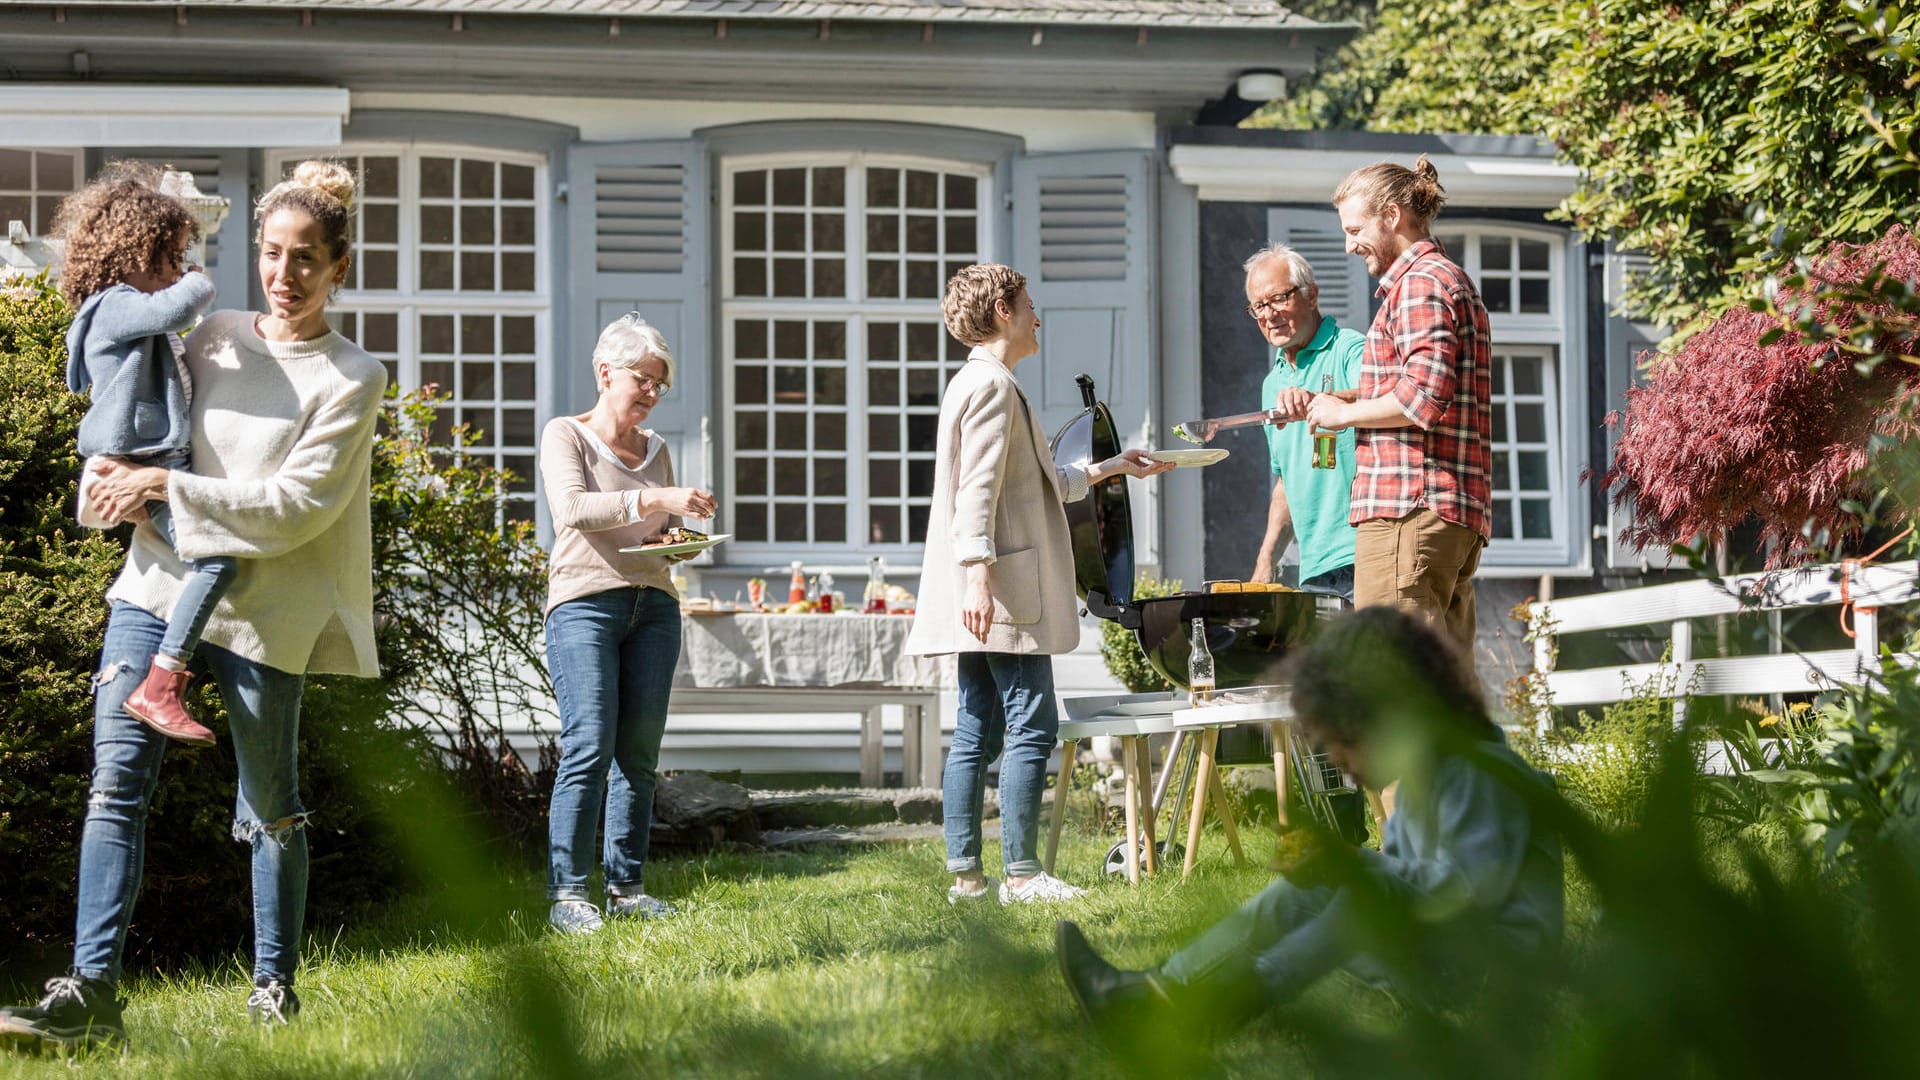
{"label": "green leafy tree foliage directly above the dark red maple", "polygon": [[1544,129],[1582,173],[1563,211],[1651,258],[1624,302],[1653,321],[1741,304],[1782,252],[1916,202],[1920,4],[1601,0],[1546,33]]}

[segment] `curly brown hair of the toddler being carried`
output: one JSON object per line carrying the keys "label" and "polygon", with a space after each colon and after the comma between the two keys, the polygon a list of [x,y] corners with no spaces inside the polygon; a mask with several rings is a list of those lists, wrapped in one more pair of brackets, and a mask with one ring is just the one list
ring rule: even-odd
{"label": "curly brown hair of the toddler being carried", "polygon": [[50,233],[67,240],[60,294],[69,307],[129,275],[159,269],[200,238],[194,211],[161,192],[159,179],[146,161],[108,161],[60,202]]}

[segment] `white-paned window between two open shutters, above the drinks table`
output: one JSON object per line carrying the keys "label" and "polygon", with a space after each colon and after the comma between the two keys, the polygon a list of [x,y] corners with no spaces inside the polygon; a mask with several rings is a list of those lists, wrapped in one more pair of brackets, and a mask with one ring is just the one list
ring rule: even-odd
{"label": "white-paned window between two open shutters, above the drinks table", "polygon": [[925,538],[947,279],[983,254],[985,167],[847,154],[722,173],[726,515],[745,555]]}

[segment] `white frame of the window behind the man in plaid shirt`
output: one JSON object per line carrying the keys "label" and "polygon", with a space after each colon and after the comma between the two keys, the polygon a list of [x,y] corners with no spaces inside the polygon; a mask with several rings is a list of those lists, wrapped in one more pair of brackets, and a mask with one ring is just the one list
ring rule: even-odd
{"label": "white frame of the window behind the man in plaid shirt", "polygon": [[[1588,436],[1586,350],[1582,336],[1586,284],[1584,267],[1576,259],[1580,242],[1565,229],[1475,219],[1440,221],[1434,227],[1434,236],[1444,242],[1448,258],[1455,259],[1475,284],[1482,279],[1480,238],[1536,240],[1548,244],[1548,311],[1488,311],[1488,329],[1492,331],[1494,352],[1538,354],[1536,348],[1528,346],[1546,346],[1551,350],[1546,390],[1551,394],[1549,402],[1557,404],[1557,407],[1548,409],[1553,536],[1549,540],[1492,540],[1480,557],[1478,575],[1538,577],[1592,573],[1592,511],[1588,507],[1588,492],[1580,482]],[[1507,436],[1515,438],[1517,432],[1509,429]],[[1496,486],[1501,482],[1505,480],[1496,479]],[[1515,532],[1519,532],[1519,521],[1515,521]]]}

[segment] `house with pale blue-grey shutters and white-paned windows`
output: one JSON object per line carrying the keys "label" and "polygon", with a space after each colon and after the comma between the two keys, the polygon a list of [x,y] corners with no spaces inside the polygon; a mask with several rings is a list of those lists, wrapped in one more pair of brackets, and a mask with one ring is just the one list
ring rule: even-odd
{"label": "house with pale blue-grey shutters and white-paned windows", "polygon": [[[680,361],[655,425],[735,536],[697,588],[732,598],[791,559],[852,582],[883,555],[912,584],[939,394],[966,356],[939,319],[956,267],[1031,277],[1043,352],[1021,377],[1048,427],[1085,371],[1133,444],[1165,444],[1256,405],[1267,350],[1238,263],[1265,238],[1306,248],[1329,311],[1363,325],[1327,196],[1425,150],[1450,240],[1509,302],[1511,534],[1482,573],[1521,582],[1513,600],[1592,577],[1605,513],[1578,477],[1630,329],[1605,317],[1605,252],[1544,217],[1569,171],[1532,140],[1231,127],[1352,31],[1273,0],[8,4],[0,219],[42,231],[111,158],[236,202],[301,158],[348,161],[340,331],[397,384],[449,392],[445,421],[522,477],[507,513],[536,521],[536,436],[591,405],[595,334],[639,309]],[[259,304],[250,231],[236,211],[209,238],[225,304]],[[1256,440],[1137,492],[1142,565],[1246,575]],[[1064,688],[1104,680],[1094,644]]]}

